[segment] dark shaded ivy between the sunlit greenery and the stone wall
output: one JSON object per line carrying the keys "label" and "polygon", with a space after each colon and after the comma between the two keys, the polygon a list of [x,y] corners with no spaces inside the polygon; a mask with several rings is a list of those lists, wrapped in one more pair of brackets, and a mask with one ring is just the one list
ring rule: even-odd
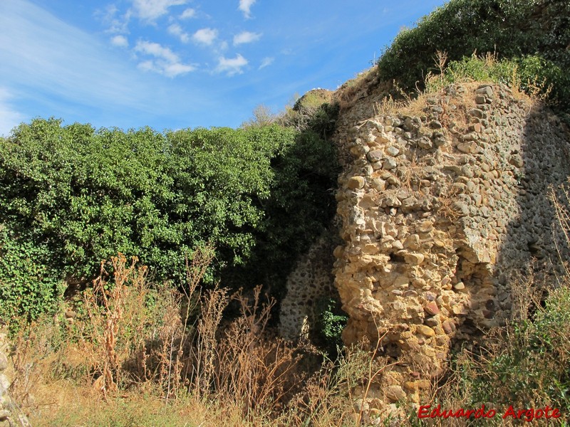
{"label": "dark shaded ivy between the sunlit greenery and the stone wall", "polygon": [[251,288],[252,283],[264,283],[278,300],[284,296],[286,277],[298,256],[336,213],[339,167],[328,138],[335,128],[338,105],[321,102],[297,113],[289,110],[280,119],[289,130],[296,129],[296,139],[271,159],[274,185],[269,198],[260,201],[265,216],[254,232],[256,246],[245,265],[224,272],[226,285]]}

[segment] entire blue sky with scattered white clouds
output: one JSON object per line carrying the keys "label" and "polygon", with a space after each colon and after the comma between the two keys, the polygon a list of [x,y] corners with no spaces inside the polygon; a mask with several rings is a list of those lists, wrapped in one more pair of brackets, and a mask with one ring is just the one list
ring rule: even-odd
{"label": "entire blue sky with scattered white clouds", "polygon": [[0,0],[0,135],[238,127],[334,90],[443,0]]}

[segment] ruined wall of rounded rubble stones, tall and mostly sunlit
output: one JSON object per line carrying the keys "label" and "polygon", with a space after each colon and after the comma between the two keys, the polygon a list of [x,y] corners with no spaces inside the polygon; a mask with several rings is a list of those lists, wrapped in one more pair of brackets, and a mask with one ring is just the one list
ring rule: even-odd
{"label": "ruined wall of rounded rubble stones, tall and mostly sunlit", "polygon": [[555,273],[568,258],[549,188],[570,175],[569,137],[551,112],[499,85],[450,87],[409,113],[370,104],[353,107],[337,135],[343,339],[381,339],[393,363],[369,399],[418,401],[455,341],[504,325],[515,276]]}

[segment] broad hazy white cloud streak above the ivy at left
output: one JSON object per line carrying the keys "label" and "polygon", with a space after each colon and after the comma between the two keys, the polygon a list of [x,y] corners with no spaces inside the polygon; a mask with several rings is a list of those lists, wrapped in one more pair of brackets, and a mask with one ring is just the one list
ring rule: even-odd
{"label": "broad hazy white cloud streak above the ivy at left", "polygon": [[[93,32],[66,23],[37,3],[0,0],[0,87],[8,94],[0,100],[0,134],[31,117],[51,116],[62,117],[66,123],[124,129],[227,125],[217,104],[224,100],[224,92],[208,91],[202,83],[205,73],[184,84],[165,78],[182,77],[182,72],[194,66],[190,60],[168,63],[160,59],[164,63],[159,64],[159,58],[138,52],[139,59],[133,62],[125,51],[110,48],[109,38],[116,34],[101,41]],[[128,38],[134,48],[136,39]],[[150,60],[149,71],[155,64],[162,68],[142,73],[137,64],[145,60]],[[189,97],[193,102],[187,102]]]}

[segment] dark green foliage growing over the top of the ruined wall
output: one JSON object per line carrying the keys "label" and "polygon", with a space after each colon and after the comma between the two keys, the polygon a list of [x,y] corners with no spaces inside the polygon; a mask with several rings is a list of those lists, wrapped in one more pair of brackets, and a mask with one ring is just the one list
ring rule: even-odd
{"label": "dark green foliage growing over the top of the ruined wall", "polygon": [[570,2],[559,0],[450,0],[396,36],[378,60],[380,76],[405,90],[422,88],[436,51],[459,61],[474,52],[516,60],[551,85],[550,100],[570,110]]}

